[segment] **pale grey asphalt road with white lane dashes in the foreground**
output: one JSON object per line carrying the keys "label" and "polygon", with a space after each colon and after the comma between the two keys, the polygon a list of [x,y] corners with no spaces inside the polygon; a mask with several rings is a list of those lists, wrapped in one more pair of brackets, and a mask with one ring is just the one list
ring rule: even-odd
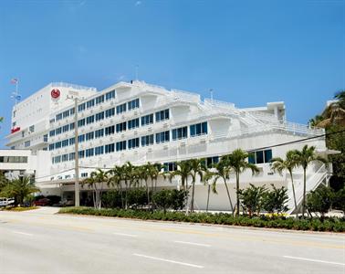
{"label": "pale grey asphalt road with white lane dashes in the foreground", "polygon": [[345,273],[345,235],[0,212],[0,273]]}

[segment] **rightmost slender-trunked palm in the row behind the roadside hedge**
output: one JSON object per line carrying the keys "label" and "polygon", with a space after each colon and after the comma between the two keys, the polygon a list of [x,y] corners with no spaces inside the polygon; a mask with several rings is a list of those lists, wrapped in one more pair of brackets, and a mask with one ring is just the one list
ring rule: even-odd
{"label": "rightmost slender-trunked palm in the row behind the roadside hedge", "polygon": [[302,201],[302,217],[304,218],[304,213],[306,211],[306,188],[307,188],[307,168],[309,163],[312,162],[320,162],[327,164],[328,161],[319,156],[316,152],[315,146],[308,146],[306,144],[303,146],[301,151],[294,150],[293,153],[295,153],[295,161],[297,165],[301,166],[303,168],[303,201]]}

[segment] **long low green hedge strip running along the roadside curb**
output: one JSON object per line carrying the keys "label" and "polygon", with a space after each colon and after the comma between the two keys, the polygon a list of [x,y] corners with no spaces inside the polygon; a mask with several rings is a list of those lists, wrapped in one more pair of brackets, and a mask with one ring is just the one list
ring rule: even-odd
{"label": "long low green hedge strip running along the roadside curb", "polygon": [[217,224],[242,227],[269,227],[294,230],[333,231],[345,232],[345,218],[328,217],[321,221],[319,218],[295,219],[284,216],[239,216],[227,213],[191,213],[184,212],[146,211],[134,209],[95,209],[93,207],[65,207],[59,210],[60,214],[78,214],[89,216],[116,216],[136,218],[142,220],[162,220],[174,222]]}

